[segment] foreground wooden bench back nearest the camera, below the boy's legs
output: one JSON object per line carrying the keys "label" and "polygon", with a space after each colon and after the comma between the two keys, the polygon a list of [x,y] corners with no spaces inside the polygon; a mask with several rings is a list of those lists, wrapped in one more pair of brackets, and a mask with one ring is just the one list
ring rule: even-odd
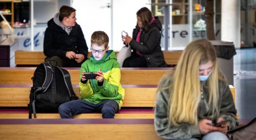
{"label": "foreground wooden bench back nearest the camera, below the boy's legs", "polygon": [[0,119],[1,140],[163,140],[154,119]]}

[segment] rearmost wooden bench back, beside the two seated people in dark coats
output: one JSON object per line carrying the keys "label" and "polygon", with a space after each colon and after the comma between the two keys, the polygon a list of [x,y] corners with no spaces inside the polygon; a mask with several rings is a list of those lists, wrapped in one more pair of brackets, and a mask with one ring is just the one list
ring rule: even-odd
{"label": "rearmost wooden bench back, beside the two seated people in dark coats", "polygon": [[[118,52],[116,52],[118,53]],[[164,60],[167,64],[176,65],[181,56],[182,50],[177,51],[164,51]],[[91,52],[88,53],[87,57],[92,55]],[[15,51],[15,64],[16,65],[39,65],[44,62],[46,56],[43,51]]]}

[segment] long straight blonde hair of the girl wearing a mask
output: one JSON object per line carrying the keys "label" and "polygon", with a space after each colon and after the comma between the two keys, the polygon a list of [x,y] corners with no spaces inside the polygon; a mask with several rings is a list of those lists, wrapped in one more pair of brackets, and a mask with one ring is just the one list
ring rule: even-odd
{"label": "long straight blonde hair of the girl wearing a mask", "polygon": [[213,71],[204,83],[209,89],[208,105],[212,113],[218,112],[219,98],[218,66],[214,47],[207,39],[193,41],[183,51],[169,87],[169,120],[178,126],[180,123],[198,124],[198,106],[201,99],[199,65],[213,63]]}

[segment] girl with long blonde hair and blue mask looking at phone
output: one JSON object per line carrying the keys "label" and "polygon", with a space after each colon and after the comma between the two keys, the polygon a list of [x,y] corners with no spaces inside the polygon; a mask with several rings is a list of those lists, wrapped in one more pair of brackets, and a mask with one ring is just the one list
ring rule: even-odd
{"label": "girl with long blonde hair and blue mask looking at phone", "polygon": [[[162,77],[155,108],[158,136],[171,140],[228,140],[238,126],[228,84],[207,39],[187,45],[174,70]],[[228,120],[214,126],[214,124]]]}

